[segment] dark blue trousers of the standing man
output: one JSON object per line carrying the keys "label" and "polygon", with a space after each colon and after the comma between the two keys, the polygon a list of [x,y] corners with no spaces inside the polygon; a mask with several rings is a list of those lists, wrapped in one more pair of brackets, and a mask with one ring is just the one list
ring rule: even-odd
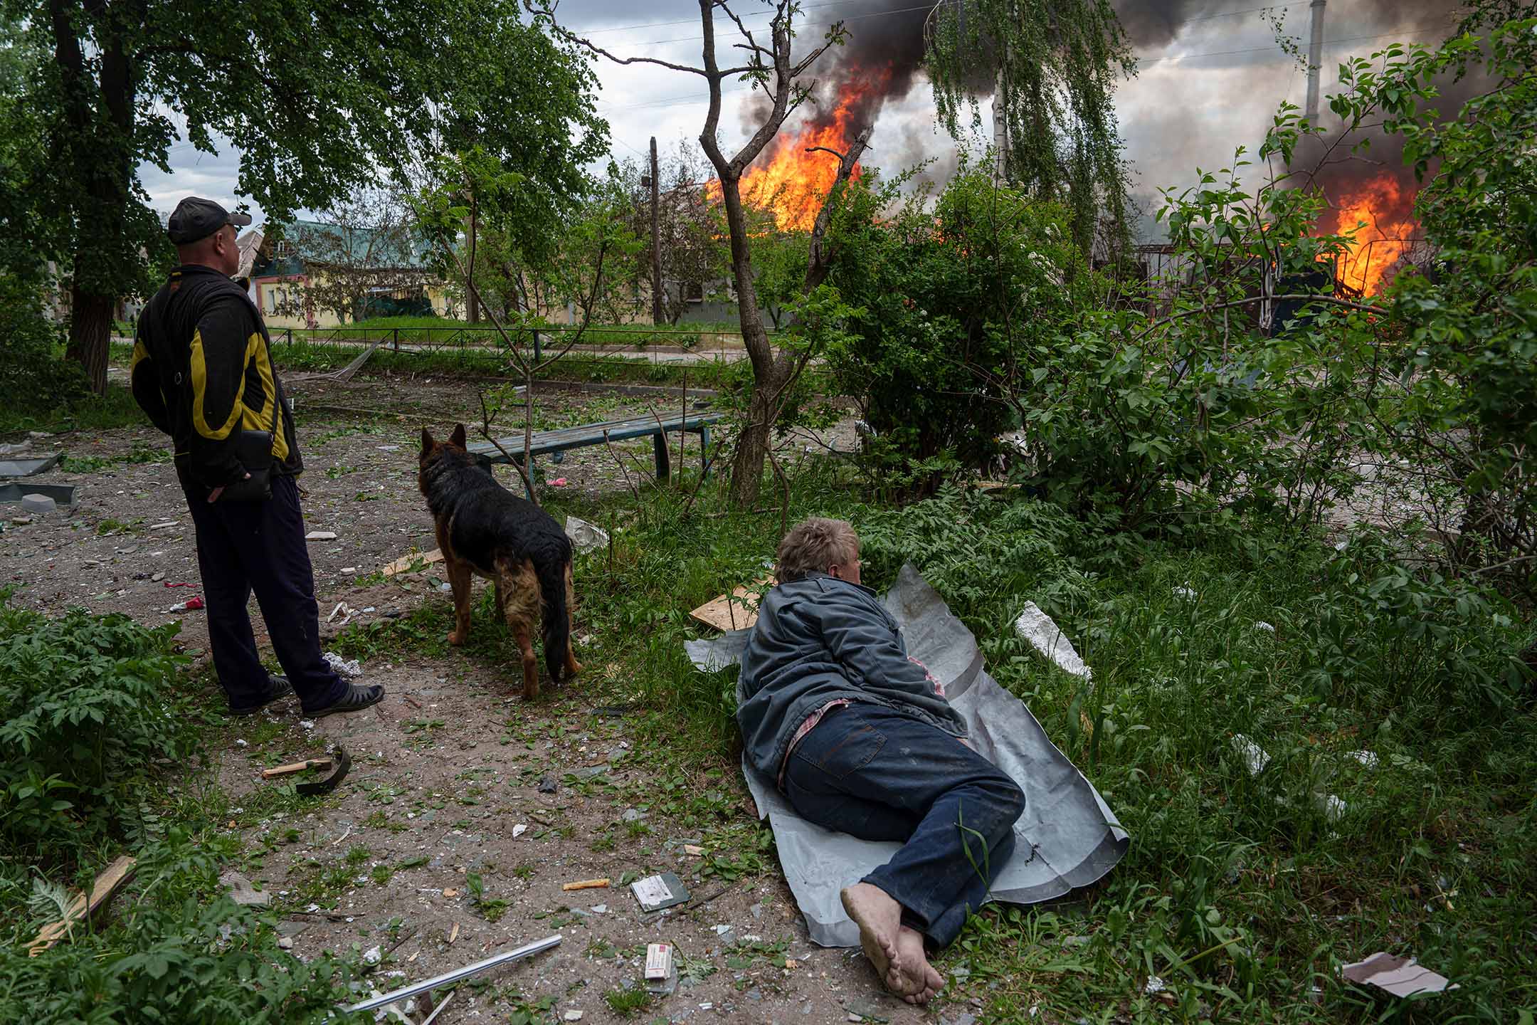
{"label": "dark blue trousers of the standing man", "polygon": [[197,562],[207,602],[214,670],[231,708],[260,704],[269,692],[267,670],[257,655],[246,604],[257,593],[278,664],[294,684],[304,712],[317,712],[346,693],[346,682],[320,655],[315,573],[298,509],[298,484],[272,476],[264,503],[214,503],[188,490],[197,526]]}

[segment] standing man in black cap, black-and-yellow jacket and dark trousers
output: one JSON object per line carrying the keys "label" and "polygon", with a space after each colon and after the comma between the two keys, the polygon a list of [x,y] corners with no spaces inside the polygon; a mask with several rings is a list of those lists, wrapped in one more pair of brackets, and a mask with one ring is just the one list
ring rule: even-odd
{"label": "standing man in black cap, black-and-yellow jacket and dark trousers", "polygon": [[[214,668],[231,713],[251,715],[295,692],[310,718],[357,712],[384,688],[347,684],[320,653],[315,576],[294,481],[304,469],[294,415],[261,313],[231,280],[240,269],[235,235],[249,223],[247,214],[212,200],[177,204],[168,234],[181,266],[138,318],[134,398],[175,441],[177,478],[197,526]],[[249,487],[241,453],[251,461],[252,436],[261,463],[267,455],[266,438],[251,432],[271,432],[271,495]],[[257,656],[246,615],[252,592],[286,679],[269,675]]]}

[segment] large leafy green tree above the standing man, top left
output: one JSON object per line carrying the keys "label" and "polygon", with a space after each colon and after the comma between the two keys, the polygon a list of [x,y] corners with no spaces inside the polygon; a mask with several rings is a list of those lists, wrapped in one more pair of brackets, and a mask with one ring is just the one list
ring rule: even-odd
{"label": "large leafy green tree above the standing man, top left", "polygon": [[[444,104],[466,109],[453,103],[466,66],[507,68],[530,52],[566,60],[552,48],[538,51],[530,37],[543,34],[518,22],[507,0],[249,0],[211,8],[180,0],[3,0],[3,12],[49,54],[25,89],[46,126],[49,160],[22,192],[32,209],[55,214],[6,229],[38,260],[55,258],[65,269],[68,355],[86,367],[97,392],[106,386],[117,300],[146,294],[151,260],[168,255],[137,169],[144,161],[169,169],[178,134],[206,152],[215,134],[235,140],[237,191],[287,220],[437,146]],[[581,103],[573,104],[569,91],[521,88],[500,95],[484,117],[570,132],[573,109]],[[530,177],[544,180],[544,169]]]}

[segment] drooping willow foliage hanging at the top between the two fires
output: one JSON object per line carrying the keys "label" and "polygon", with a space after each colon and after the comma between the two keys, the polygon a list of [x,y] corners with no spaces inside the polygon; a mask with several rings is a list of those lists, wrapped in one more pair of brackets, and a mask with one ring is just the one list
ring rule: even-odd
{"label": "drooping willow foliage hanging at the top between the two fires", "polygon": [[928,18],[928,74],[951,135],[991,94],[999,172],[1073,212],[1087,254],[1104,217],[1125,223],[1116,80],[1134,60],[1110,0],[945,0]]}

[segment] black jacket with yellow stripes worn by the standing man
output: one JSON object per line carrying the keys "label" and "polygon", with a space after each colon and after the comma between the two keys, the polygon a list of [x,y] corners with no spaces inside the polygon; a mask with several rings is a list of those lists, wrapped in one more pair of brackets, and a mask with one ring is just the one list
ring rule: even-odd
{"label": "black jacket with yellow stripes worn by the standing man", "polygon": [[304,469],[267,327],[241,287],[214,267],[177,267],[149,300],[132,380],[134,400],[175,441],[183,487],[212,490],[240,479],[244,467],[231,446],[240,430],[272,430],[275,473]]}

